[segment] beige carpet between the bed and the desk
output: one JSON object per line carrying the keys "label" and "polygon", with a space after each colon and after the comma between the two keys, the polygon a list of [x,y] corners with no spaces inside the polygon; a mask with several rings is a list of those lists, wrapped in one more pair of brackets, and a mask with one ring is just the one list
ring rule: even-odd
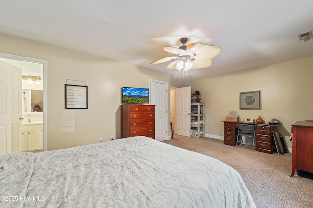
{"label": "beige carpet between the bed and the desk", "polygon": [[257,208],[312,208],[313,180],[295,173],[291,178],[292,154],[266,154],[251,146],[232,147],[222,140],[174,135],[164,143],[214,157],[237,170]]}

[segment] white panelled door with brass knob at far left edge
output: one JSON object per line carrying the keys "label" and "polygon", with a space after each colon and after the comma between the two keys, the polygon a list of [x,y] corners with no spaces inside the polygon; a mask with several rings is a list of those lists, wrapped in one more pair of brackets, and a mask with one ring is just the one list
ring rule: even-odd
{"label": "white panelled door with brass knob at far left edge", "polygon": [[0,61],[0,154],[22,151],[22,69]]}

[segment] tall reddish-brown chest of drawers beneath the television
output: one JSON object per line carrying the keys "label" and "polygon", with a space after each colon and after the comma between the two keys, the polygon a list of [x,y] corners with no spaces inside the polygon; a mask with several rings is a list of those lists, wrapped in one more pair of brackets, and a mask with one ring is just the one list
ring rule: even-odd
{"label": "tall reddish-brown chest of drawers beneath the television", "polygon": [[133,136],[155,138],[154,105],[122,105],[122,138]]}

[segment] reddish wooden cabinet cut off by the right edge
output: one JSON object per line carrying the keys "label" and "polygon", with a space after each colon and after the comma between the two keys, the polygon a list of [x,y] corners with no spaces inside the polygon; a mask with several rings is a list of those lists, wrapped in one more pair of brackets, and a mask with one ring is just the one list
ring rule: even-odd
{"label": "reddish wooden cabinet cut off by the right edge", "polygon": [[292,125],[292,168],[313,173],[313,122],[297,121]]}

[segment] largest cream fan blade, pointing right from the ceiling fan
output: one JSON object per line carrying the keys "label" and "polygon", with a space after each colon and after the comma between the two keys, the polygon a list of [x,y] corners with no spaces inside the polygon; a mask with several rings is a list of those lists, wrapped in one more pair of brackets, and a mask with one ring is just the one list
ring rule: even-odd
{"label": "largest cream fan blade, pointing right from the ceiling fan", "polygon": [[193,58],[197,60],[210,60],[221,53],[221,48],[214,45],[206,45],[202,43],[190,43],[187,50],[196,54]]}

